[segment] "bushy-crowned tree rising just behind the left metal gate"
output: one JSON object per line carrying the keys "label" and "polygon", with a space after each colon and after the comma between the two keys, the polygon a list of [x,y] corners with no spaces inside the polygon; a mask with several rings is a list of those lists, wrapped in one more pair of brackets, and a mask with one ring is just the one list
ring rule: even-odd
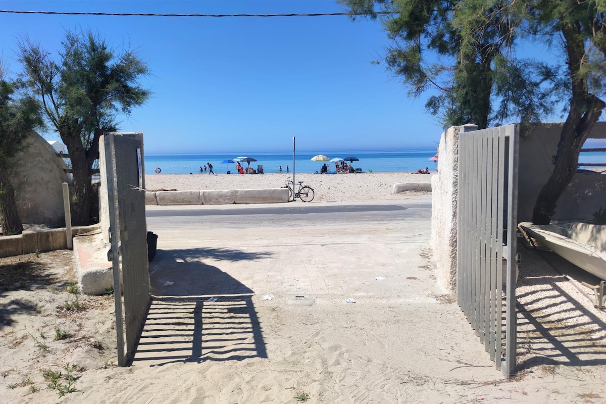
{"label": "bushy-crowned tree rising just behind the left metal gate", "polygon": [[119,113],[130,114],[149,98],[150,91],[138,82],[149,70],[135,52],[117,55],[92,31],[67,31],[61,45],[55,61],[39,43],[24,37],[18,43],[19,59],[26,84],[70,155],[72,222],[87,225],[95,197],[91,180],[99,138],[116,130]]}

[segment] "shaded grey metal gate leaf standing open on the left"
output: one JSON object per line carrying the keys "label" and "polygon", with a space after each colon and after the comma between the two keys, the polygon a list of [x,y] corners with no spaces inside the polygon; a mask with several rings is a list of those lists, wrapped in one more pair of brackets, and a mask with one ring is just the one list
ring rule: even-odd
{"label": "shaded grey metal gate leaf standing open on the left", "polygon": [[[142,134],[104,134],[118,365],[132,359],[150,304]],[[123,299],[122,299],[123,298]]]}

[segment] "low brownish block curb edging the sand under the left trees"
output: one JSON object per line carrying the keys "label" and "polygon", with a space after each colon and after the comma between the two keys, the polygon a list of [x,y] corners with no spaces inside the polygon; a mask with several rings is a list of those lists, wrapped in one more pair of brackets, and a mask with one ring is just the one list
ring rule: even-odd
{"label": "low brownish block curb edging the sand under the left trees", "polygon": [[[101,225],[72,227],[72,237],[101,229]],[[44,230],[25,230],[16,236],[0,237],[0,257],[12,257],[21,254],[33,254],[36,251],[65,250],[67,238],[65,228]]]}

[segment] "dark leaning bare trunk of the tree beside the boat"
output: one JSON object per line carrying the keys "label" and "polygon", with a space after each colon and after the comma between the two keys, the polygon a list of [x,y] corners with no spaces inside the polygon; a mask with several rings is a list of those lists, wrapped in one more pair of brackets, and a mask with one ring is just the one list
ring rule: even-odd
{"label": "dark leaning bare trunk of the tree beside the boat", "polygon": [[559,197],[576,174],[581,148],[587,140],[591,128],[606,107],[604,101],[587,91],[587,81],[581,75],[585,49],[578,33],[579,28],[576,25],[567,25],[562,28],[571,76],[572,96],[570,111],[568,111],[560,134],[553,173],[539,192],[534,205],[532,221],[538,225],[547,225],[551,222]]}

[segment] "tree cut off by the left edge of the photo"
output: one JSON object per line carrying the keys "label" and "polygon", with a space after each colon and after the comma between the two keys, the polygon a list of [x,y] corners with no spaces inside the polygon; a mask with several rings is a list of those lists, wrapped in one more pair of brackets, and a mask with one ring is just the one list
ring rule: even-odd
{"label": "tree cut off by the left edge of the photo", "polygon": [[20,150],[25,135],[42,124],[35,99],[13,99],[17,85],[5,81],[0,74],[0,223],[4,234],[23,231],[15,189],[8,178],[8,165]]}

